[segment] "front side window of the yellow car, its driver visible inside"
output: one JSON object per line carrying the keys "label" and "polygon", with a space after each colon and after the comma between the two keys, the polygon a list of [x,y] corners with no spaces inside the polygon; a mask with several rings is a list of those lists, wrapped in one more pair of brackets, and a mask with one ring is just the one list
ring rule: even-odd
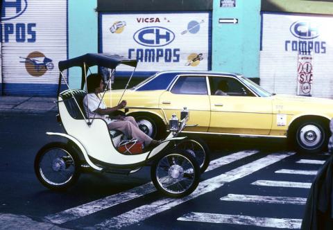
{"label": "front side window of the yellow car, its driver visible inside", "polygon": [[235,78],[210,77],[210,91],[218,96],[255,96]]}

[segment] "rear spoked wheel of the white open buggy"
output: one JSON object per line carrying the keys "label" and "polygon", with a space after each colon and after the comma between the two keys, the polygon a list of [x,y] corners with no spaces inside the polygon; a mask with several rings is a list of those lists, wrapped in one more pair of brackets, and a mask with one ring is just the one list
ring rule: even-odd
{"label": "rear spoked wheel of the white open buggy", "polygon": [[79,162],[76,152],[66,143],[48,143],[37,152],[35,174],[46,188],[63,191],[78,181]]}

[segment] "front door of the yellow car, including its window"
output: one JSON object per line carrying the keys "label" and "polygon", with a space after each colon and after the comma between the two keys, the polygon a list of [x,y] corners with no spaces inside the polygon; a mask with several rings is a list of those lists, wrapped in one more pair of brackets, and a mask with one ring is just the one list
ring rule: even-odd
{"label": "front door of the yellow car, including its window", "polygon": [[211,91],[209,132],[269,134],[272,125],[270,97],[256,96],[234,76],[209,76],[208,78]]}

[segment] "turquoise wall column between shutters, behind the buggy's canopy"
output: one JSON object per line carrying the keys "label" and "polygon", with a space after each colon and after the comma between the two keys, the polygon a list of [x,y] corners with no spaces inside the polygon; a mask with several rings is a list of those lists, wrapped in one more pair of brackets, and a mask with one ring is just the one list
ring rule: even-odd
{"label": "turquoise wall column between shutters, behind the buggy's canopy", "polygon": [[[68,0],[69,58],[98,53],[97,0]],[[93,68],[92,71],[96,71]],[[80,87],[80,68],[69,70],[69,87]]]}

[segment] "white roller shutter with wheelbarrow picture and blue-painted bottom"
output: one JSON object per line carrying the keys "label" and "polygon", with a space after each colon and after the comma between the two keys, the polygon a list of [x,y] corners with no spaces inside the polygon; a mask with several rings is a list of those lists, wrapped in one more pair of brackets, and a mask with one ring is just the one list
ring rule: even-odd
{"label": "white roller shutter with wheelbarrow picture and blue-painted bottom", "polygon": [[56,96],[58,62],[67,59],[67,0],[4,1],[3,94]]}

